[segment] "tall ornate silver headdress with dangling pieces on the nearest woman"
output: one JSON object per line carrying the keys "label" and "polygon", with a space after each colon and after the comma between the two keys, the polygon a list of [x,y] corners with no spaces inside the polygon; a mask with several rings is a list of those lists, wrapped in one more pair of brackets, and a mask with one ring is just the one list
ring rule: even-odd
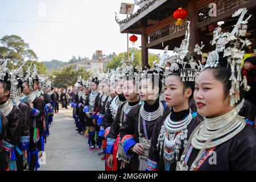
{"label": "tall ornate silver headdress with dangling pieces on the nearest woman", "polygon": [[240,86],[243,86],[243,89],[245,90],[250,89],[246,84],[246,77],[243,77],[242,79],[241,76],[241,64],[243,55],[245,54],[241,49],[244,46],[249,46],[251,44],[250,40],[247,38],[245,40],[240,38],[241,36],[245,36],[248,20],[251,18],[251,15],[249,15],[248,18],[243,20],[246,13],[246,8],[242,8],[232,15],[232,17],[240,15],[232,32],[221,32],[221,25],[213,31],[213,40],[211,41],[211,44],[212,46],[215,45],[216,49],[209,54],[207,63],[205,64],[205,68],[216,68],[220,61],[219,53],[223,52],[223,57],[227,57],[227,67],[230,67],[232,71],[232,75],[229,78],[232,84],[231,89],[229,90],[230,106],[233,106],[240,100]]}

